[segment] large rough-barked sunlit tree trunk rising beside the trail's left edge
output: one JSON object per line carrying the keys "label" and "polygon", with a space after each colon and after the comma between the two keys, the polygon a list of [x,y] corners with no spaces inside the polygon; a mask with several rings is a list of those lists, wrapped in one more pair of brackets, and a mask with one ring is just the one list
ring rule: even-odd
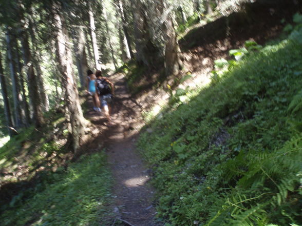
{"label": "large rough-barked sunlit tree trunk rising beside the trail's left edge", "polygon": [[66,118],[70,118],[73,150],[76,152],[82,144],[86,121],[83,117],[77,85],[74,82],[72,73],[72,55],[68,47],[69,40],[64,25],[64,19],[60,15],[61,10],[61,5],[53,3],[54,25],[57,29],[56,42],[58,43],[56,54],[58,54],[59,57],[59,70],[61,72],[63,86],[66,88],[65,104],[69,112],[69,115],[66,115]]}

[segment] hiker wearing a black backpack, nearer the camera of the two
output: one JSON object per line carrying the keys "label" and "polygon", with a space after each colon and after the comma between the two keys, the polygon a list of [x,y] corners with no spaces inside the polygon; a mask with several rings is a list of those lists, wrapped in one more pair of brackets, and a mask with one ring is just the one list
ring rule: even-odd
{"label": "hiker wearing a black backpack, nearer the camera of the two", "polygon": [[111,103],[112,98],[115,95],[115,88],[108,78],[103,77],[101,71],[96,71],[96,77],[97,92],[99,94],[100,102],[109,122],[109,125],[111,125],[110,106],[108,106],[108,104]]}

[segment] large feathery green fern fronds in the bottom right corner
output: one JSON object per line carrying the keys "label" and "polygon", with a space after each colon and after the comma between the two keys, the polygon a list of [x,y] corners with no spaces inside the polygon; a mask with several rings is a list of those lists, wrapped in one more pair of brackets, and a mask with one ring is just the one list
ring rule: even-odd
{"label": "large feathery green fern fronds in the bottom right corner", "polygon": [[[226,162],[226,169],[231,169],[228,177],[241,175],[241,178],[236,189],[223,196],[225,202],[220,209],[212,212],[206,225],[219,225],[219,222],[226,222],[225,225],[230,226],[267,225],[266,210],[281,208],[288,205],[289,200],[297,199],[295,195],[298,194],[300,183],[298,173],[302,172],[301,147],[302,135],[299,134],[286,142],[280,150],[250,150],[245,154],[240,152],[237,157]],[[269,192],[257,194],[255,191]],[[251,197],[252,194],[255,196]],[[287,220],[294,222],[286,210],[282,211]]]}

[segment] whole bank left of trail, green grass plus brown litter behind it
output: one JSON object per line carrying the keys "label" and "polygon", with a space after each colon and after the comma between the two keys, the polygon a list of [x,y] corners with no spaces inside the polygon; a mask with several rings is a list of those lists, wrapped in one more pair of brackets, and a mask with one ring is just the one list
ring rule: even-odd
{"label": "whole bank left of trail, green grass plus brown litter behind it", "polygon": [[[0,148],[0,225],[108,225],[112,178],[105,153],[71,162],[64,142],[51,139],[52,131],[64,129],[65,118],[49,114],[47,120]],[[63,131],[59,139],[67,136]]]}

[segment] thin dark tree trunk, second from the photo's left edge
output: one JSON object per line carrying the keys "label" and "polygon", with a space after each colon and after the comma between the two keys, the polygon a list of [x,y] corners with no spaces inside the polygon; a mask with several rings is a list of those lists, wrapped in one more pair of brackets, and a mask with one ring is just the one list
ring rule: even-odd
{"label": "thin dark tree trunk, second from the photo's left edge", "polygon": [[17,80],[16,70],[15,70],[15,63],[14,63],[13,55],[12,55],[12,47],[11,47],[9,29],[7,29],[6,43],[7,43],[9,68],[10,68],[10,73],[11,73],[11,81],[12,81],[13,102],[14,102],[14,111],[15,111],[15,127],[20,128],[22,126],[22,116],[21,116],[21,108],[20,108],[21,100],[20,100],[20,96],[19,96],[18,80]]}

